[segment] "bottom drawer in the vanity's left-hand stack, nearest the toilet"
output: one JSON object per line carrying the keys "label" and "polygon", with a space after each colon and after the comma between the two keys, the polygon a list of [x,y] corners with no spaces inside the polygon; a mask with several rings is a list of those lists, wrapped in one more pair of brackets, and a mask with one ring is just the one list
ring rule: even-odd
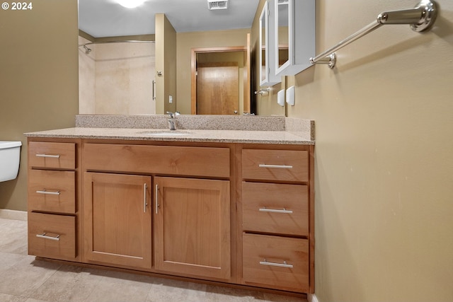
{"label": "bottom drawer in the vanity's left-hand stack, nearest the toilet", "polygon": [[76,217],[28,212],[28,254],[74,260]]}

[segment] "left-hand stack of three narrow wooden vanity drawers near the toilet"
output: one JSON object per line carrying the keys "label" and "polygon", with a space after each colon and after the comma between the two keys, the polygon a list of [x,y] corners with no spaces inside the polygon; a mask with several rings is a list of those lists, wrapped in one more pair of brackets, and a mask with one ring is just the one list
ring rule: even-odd
{"label": "left-hand stack of three narrow wooden vanity drawers near the toilet", "polygon": [[28,139],[28,253],[78,261],[76,140]]}

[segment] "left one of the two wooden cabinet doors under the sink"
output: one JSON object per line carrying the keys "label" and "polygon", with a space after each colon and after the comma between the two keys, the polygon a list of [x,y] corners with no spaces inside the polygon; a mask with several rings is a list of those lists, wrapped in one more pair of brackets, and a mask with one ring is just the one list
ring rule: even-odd
{"label": "left one of the two wooden cabinet doors under the sink", "polygon": [[85,173],[88,262],[151,269],[151,177]]}

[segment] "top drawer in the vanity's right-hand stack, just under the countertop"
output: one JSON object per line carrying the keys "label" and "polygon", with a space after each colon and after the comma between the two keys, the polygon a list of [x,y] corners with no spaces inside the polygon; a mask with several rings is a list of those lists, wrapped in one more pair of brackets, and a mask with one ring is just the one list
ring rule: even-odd
{"label": "top drawer in the vanity's right-hand stack, just under the countertop", "polygon": [[309,152],[243,149],[242,177],[246,180],[309,181]]}

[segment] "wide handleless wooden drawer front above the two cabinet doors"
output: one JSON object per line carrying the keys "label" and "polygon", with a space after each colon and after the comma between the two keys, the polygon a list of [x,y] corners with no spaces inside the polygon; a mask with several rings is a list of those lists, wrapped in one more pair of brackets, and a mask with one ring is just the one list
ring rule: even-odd
{"label": "wide handleless wooden drawer front above the two cabinet doors", "polygon": [[87,170],[229,177],[229,149],[85,144]]}

